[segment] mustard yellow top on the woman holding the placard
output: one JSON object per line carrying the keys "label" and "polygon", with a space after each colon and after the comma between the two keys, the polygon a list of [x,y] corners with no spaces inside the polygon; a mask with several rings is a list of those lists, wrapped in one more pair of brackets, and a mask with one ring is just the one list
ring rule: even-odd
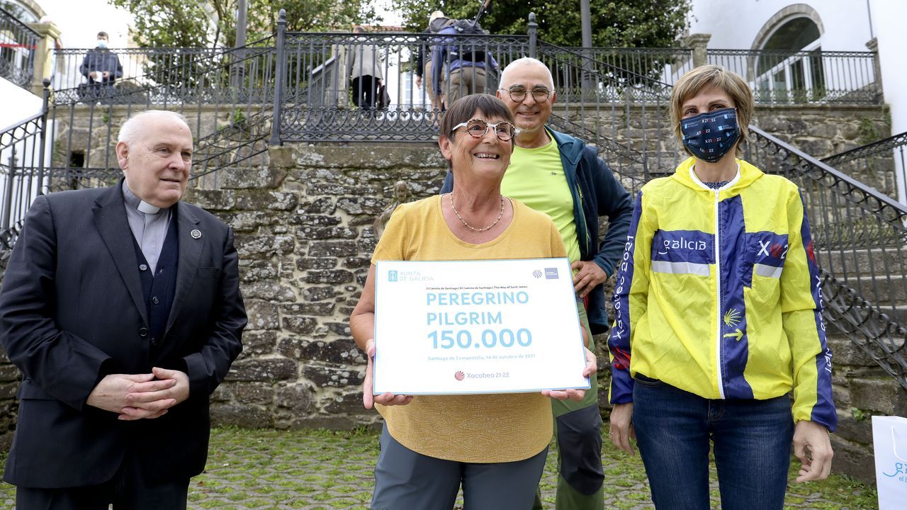
{"label": "mustard yellow top on the woman holding the placard", "polygon": [[[511,224],[482,244],[453,235],[444,221],[440,196],[401,204],[387,222],[372,263],[565,257],[561,234],[551,219],[519,201],[511,202]],[[513,462],[537,455],[551,441],[551,400],[541,393],[415,396],[406,406],[375,407],[400,444],[445,460]]]}

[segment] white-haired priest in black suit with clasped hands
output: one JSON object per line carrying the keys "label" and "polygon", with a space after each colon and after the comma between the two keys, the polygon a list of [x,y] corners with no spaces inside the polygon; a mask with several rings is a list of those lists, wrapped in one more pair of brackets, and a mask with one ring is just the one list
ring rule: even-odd
{"label": "white-haired priest in black suit with clasped hands", "polygon": [[4,480],[18,510],[185,508],[208,455],[209,397],[242,350],[233,233],[180,202],[178,113],[123,123],[123,179],[38,197],[0,291],[23,374]]}

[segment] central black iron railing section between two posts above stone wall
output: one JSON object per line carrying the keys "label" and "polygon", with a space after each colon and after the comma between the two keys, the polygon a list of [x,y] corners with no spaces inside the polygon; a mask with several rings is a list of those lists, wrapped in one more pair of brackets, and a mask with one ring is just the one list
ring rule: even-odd
{"label": "central black iron railing section between two posts above stone wall", "polygon": [[[415,83],[416,55],[427,44],[424,34],[287,33],[282,46],[280,40],[278,34],[278,54],[286,59],[279,82],[280,141],[427,142],[436,136],[439,112],[427,92],[433,80],[423,76],[421,87]],[[528,53],[527,42],[525,35],[444,36],[445,45],[462,54],[482,54],[497,65],[463,71],[488,93],[497,89],[503,66]],[[369,76],[381,80],[389,103],[375,102],[377,82]],[[367,83],[374,88],[366,91]],[[455,84],[447,79],[436,84],[450,97]]]}

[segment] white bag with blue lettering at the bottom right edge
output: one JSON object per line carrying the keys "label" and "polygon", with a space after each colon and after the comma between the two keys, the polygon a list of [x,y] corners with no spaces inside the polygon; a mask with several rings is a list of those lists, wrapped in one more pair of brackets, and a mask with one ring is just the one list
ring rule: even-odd
{"label": "white bag with blue lettering at the bottom right edge", "polygon": [[907,501],[907,418],[873,417],[873,448],[879,510],[902,510]]}

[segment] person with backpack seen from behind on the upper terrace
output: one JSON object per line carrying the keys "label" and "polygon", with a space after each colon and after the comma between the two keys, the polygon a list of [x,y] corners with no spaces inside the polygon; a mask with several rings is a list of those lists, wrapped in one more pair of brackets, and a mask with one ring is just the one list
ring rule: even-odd
{"label": "person with backpack seen from behind on the upper terrace", "polygon": [[[439,20],[435,20],[437,23]],[[438,35],[485,35],[478,21],[445,20]],[[489,72],[497,72],[487,44],[478,37],[470,40],[461,37],[437,37],[441,44],[432,50],[432,87],[445,104],[471,93],[484,93]],[[446,70],[446,72],[445,72]],[[446,75],[447,88],[442,90],[442,76]]]}

